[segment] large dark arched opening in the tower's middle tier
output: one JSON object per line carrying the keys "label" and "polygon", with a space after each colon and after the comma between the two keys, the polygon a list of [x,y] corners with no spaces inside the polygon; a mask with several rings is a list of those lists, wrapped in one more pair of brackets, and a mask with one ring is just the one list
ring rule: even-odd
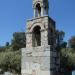
{"label": "large dark arched opening in the tower's middle tier", "polygon": [[41,32],[40,27],[36,26],[32,32],[32,45],[33,47],[41,46]]}

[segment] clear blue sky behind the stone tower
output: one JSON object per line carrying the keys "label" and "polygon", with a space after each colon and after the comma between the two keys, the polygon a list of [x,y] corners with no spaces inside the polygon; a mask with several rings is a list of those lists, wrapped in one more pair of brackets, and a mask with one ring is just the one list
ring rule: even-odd
{"label": "clear blue sky behind the stone tower", "polygon": [[[49,0],[49,6],[49,15],[68,40],[75,35],[75,0]],[[0,0],[0,46],[10,42],[14,32],[25,31],[32,17],[32,0]]]}

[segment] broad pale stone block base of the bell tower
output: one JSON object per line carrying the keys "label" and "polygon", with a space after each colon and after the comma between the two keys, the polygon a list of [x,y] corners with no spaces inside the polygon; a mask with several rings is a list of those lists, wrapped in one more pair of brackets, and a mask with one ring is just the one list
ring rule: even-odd
{"label": "broad pale stone block base of the bell tower", "polygon": [[[40,46],[22,49],[22,75],[53,75],[56,52],[50,51],[50,46]],[[52,71],[50,71],[52,69]]]}

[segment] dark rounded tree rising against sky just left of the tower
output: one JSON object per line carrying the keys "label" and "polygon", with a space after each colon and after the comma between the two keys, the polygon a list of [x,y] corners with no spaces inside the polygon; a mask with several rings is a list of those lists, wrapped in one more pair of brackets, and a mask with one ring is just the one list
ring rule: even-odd
{"label": "dark rounded tree rising against sky just left of the tower", "polygon": [[26,46],[25,32],[15,32],[13,34],[13,40],[11,45],[13,50],[19,50],[20,48],[25,47]]}

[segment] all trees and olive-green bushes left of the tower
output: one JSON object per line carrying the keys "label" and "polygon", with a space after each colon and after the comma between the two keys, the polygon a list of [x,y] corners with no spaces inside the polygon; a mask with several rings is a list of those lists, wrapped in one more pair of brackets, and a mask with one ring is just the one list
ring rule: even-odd
{"label": "all trees and olive-green bushes left of the tower", "polygon": [[13,34],[11,45],[6,42],[6,45],[0,47],[0,68],[3,71],[12,71],[13,73],[21,72],[21,50],[25,47],[26,37],[24,32]]}

